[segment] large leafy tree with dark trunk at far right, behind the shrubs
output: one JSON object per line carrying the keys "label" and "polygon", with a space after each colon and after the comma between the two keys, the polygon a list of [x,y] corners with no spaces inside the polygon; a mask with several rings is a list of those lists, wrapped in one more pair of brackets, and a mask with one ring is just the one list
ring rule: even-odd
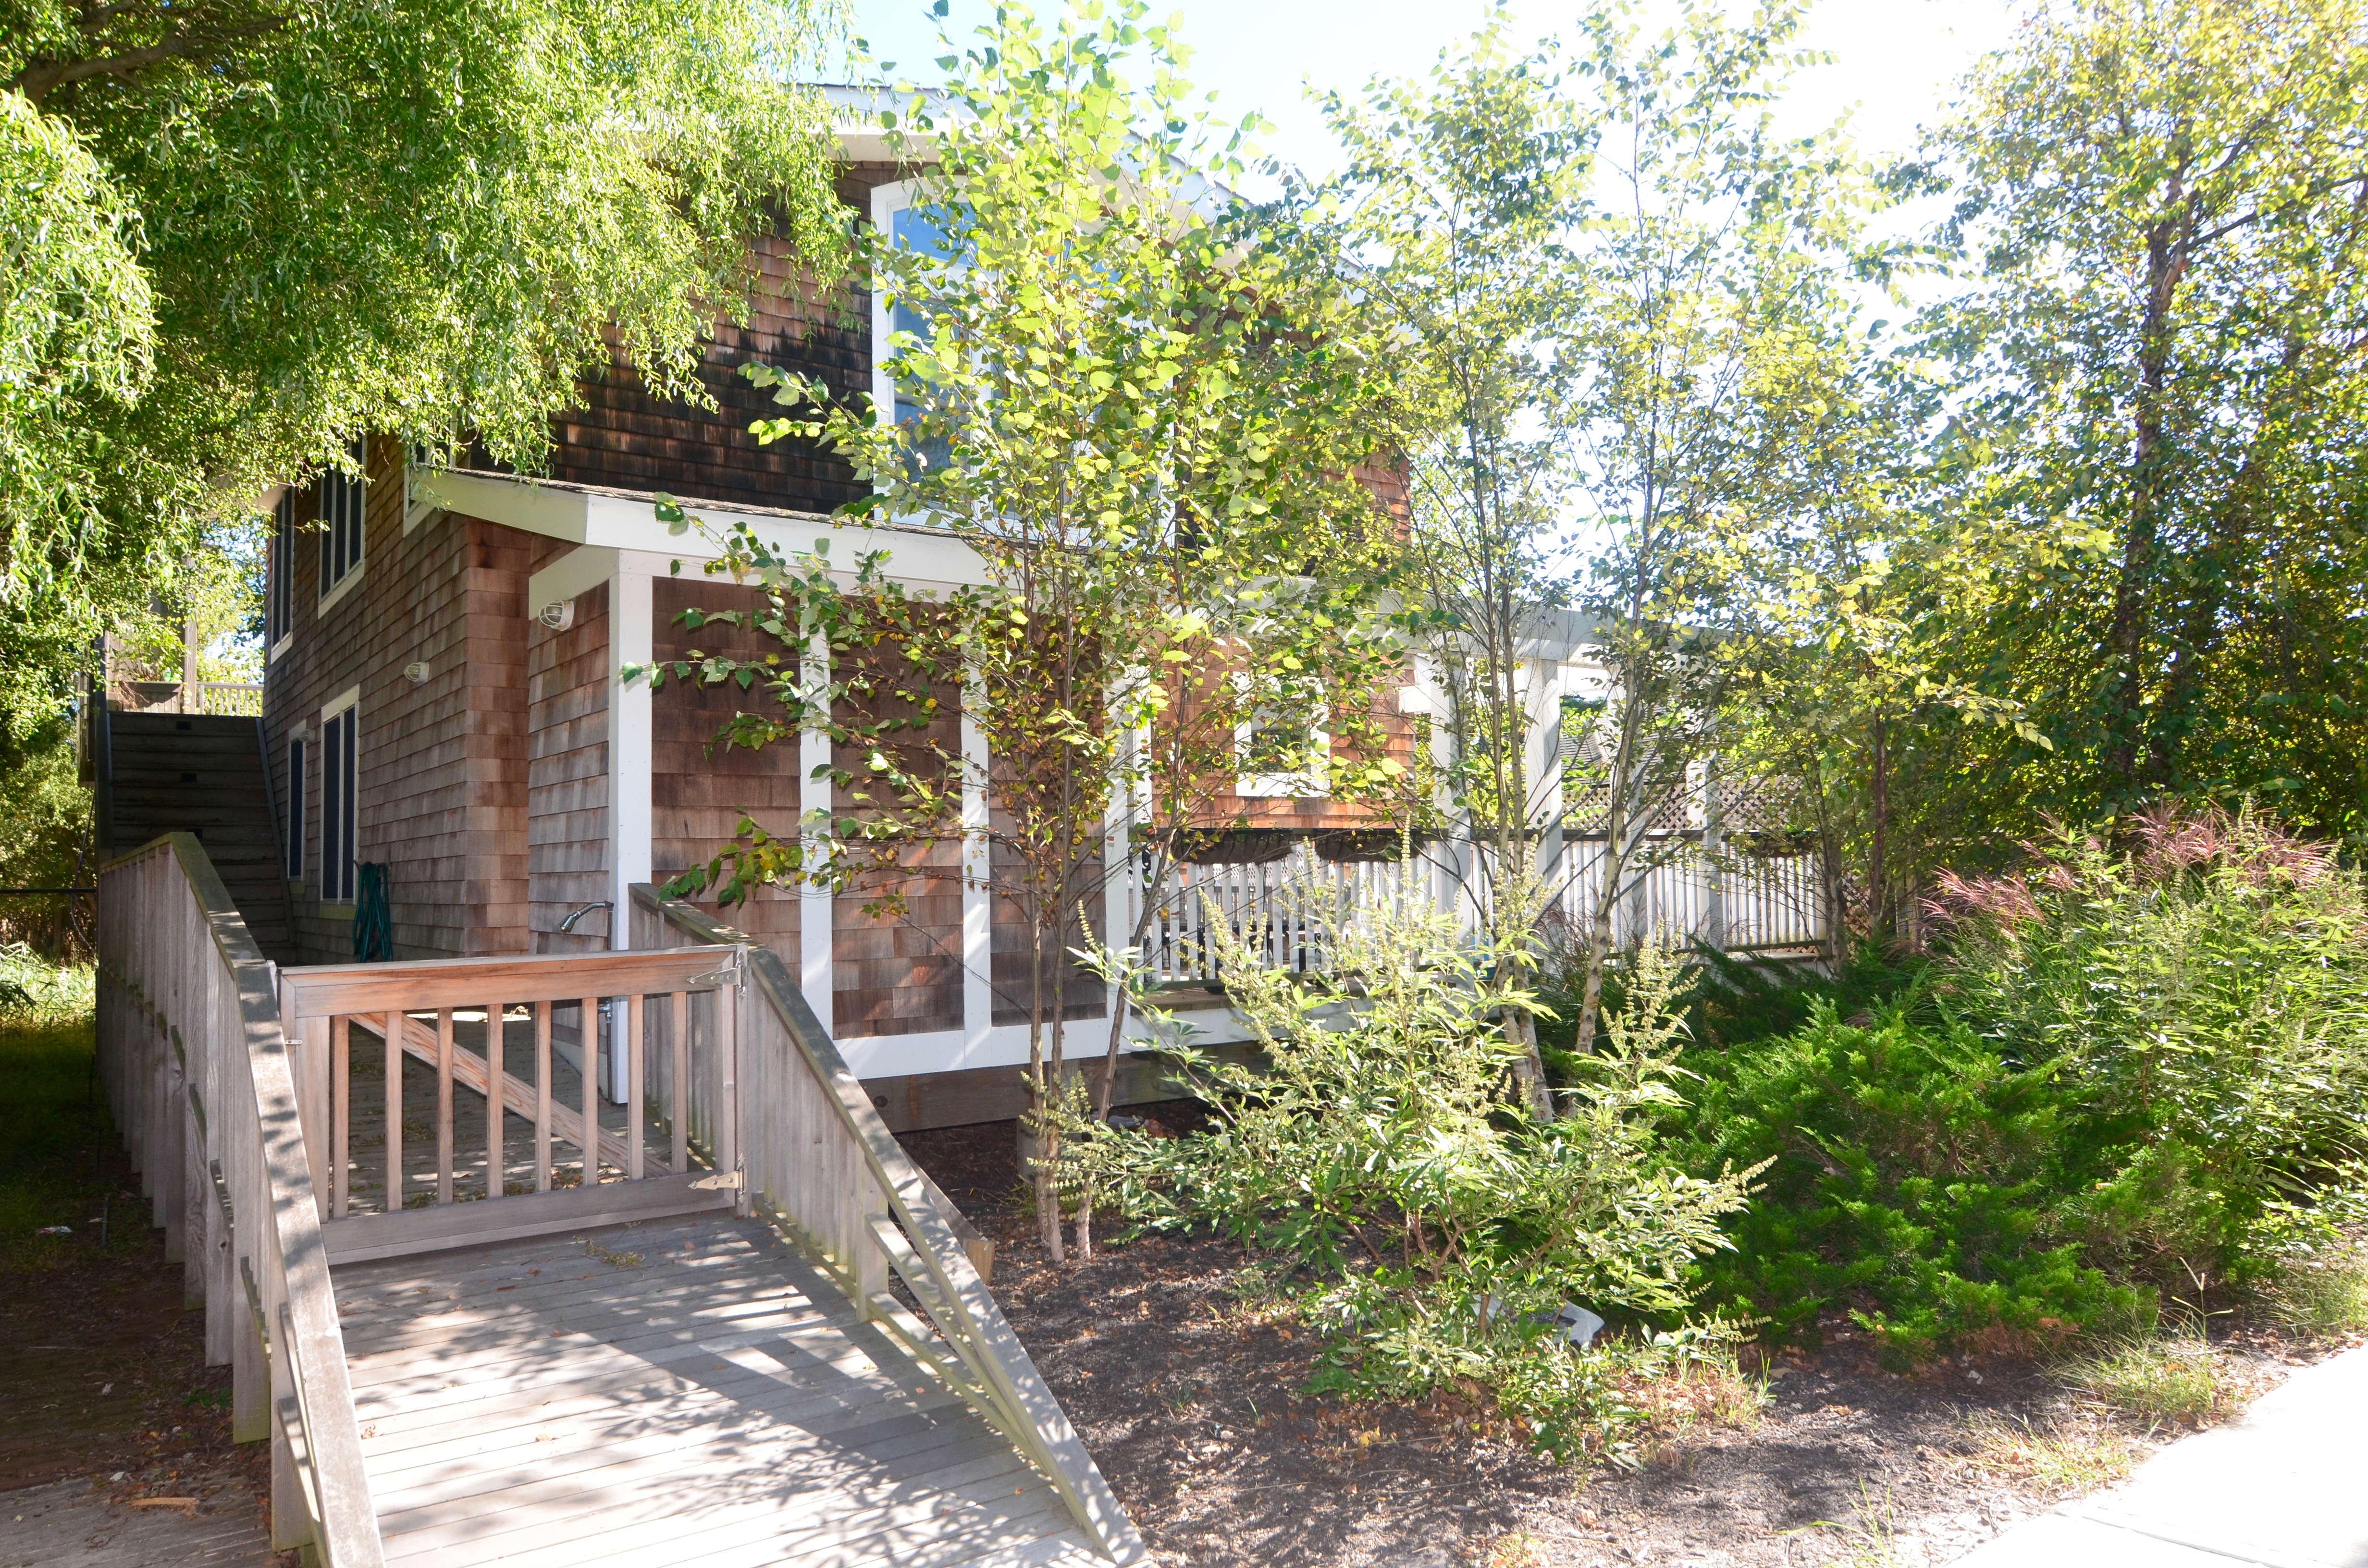
{"label": "large leafy tree with dark trunk at far right, behind the shrubs", "polygon": [[2089,540],[1984,625],[2060,751],[1975,763],[2006,831],[2238,791],[2368,824],[2363,83],[2351,0],[2081,0],[1937,140],[1975,268],[1930,322],[1982,455],[1958,500]]}

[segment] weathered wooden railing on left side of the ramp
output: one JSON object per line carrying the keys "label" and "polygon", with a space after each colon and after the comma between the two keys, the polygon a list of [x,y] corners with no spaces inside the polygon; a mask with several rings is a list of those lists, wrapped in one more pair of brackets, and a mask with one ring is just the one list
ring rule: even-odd
{"label": "weathered wooden railing on left side of the ramp", "polygon": [[168,1248],[178,1232],[204,1277],[232,1431],[272,1440],[272,1544],[381,1568],[272,966],[192,834],[99,869],[99,976],[109,1097]]}

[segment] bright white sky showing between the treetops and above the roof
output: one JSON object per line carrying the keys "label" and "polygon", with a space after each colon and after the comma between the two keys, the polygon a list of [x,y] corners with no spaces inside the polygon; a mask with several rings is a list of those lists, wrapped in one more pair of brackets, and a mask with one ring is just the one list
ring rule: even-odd
{"label": "bright white sky showing between the treetops and above the roof", "polygon": [[[1040,14],[1056,9],[1042,0]],[[1229,118],[1250,109],[1274,121],[1265,149],[1310,173],[1328,173],[1338,152],[1302,85],[1354,90],[1376,73],[1421,76],[1437,52],[1487,17],[1487,0],[1153,0],[1153,14],[1182,17],[1193,57],[1193,85],[1215,90]],[[1568,31],[1570,0],[1513,0],[1513,36],[1532,40]],[[1674,5],[1650,0],[1648,17]],[[952,31],[995,14],[992,0],[952,0]],[[1802,45],[1835,57],[1804,71],[1785,116],[1788,130],[1814,130],[1849,114],[1852,135],[1868,154],[1904,154],[1916,128],[1935,121],[1951,85],[1973,59],[2001,47],[2013,26],[2006,0],[1814,0]],[[938,71],[935,19],[928,0],[855,0],[855,33],[874,59],[897,64],[897,76],[928,81]]]}

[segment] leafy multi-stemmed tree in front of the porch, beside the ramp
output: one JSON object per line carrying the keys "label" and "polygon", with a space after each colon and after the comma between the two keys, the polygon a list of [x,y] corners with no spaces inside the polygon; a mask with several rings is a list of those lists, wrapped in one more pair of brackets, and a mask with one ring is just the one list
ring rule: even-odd
{"label": "leafy multi-stemmed tree in front of the porch, beside the ramp", "polygon": [[[1186,109],[1179,50],[1139,5],[1049,28],[1004,7],[940,66],[945,97],[890,126],[919,171],[916,218],[860,239],[900,322],[881,343],[897,405],[834,405],[758,369],[791,410],[758,433],[831,443],[876,486],[852,514],[961,540],[985,583],[921,599],[874,564],[817,609],[826,571],[744,540],[732,564],[777,595],[765,630],[796,642],[845,623],[831,647],[864,651],[862,713],[800,675],[803,651],[682,675],[765,682],[779,713],[741,722],[741,744],[822,727],[864,756],[841,772],[857,805],[841,820],[796,843],[744,824],[710,872],[729,865],[727,888],[826,876],[888,907],[916,872],[959,874],[1018,914],[1037,1220],[1061,1258],[1068,955],[1080,905],[1134,848],[1113,843],[1118,789],[1151,765],[1238,772],[1231,737],[1260,715],[1312,737],[1328,713],[1354,734],[1390,666],[1354,587],[1376,514],[1352,474],[1371,450],[1352,422],[1364,372],[1333,346],[1338,268],[1212,185],[1238,168],[1238,130]],[[1307,580],[1319,564],[1331,585]],[[945,692],[985,765],[926,734]],[[1151,784],[1163,865],[1201,827],[1191,789]],[[931,867],[954,841],[964,865]]]}

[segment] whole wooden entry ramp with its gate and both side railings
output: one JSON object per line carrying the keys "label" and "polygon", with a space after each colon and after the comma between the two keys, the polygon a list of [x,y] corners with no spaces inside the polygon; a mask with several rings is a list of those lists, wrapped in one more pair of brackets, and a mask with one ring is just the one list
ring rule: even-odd
{"label": "whole wooden entry ramp with its gate and both side railings", "polygon": [[102,1080],[277,1547],[1144,1561],[770,950],[642,886],[632,952],[275,973],[189,834],[99,888]]}

